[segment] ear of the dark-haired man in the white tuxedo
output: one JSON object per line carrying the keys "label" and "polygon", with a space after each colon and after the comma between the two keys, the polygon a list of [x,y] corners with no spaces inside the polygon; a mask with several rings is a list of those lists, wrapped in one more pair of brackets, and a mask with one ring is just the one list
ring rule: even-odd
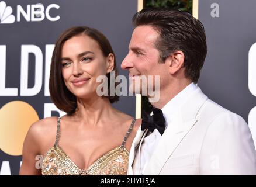
{"label": "ear of the dark-haired man in the white tuxedo", "polygon": [[166,60],[165,63],[168,63],[170,74],[175,74],[183,67],[185,60],[184,53],[182,51],[175,51],[172,53]]}

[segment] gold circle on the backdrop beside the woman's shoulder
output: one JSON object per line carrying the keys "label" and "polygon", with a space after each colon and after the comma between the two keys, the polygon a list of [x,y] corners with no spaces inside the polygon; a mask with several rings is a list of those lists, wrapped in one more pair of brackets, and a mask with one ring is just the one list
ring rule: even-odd
{"label": "gold circle on the backdrop beside the woman's shoulder", "polygon": [[26,102],[12,101],[0,109],[0,148],[9,155],[22,155],[23,142],[32,123],[39,120]]}

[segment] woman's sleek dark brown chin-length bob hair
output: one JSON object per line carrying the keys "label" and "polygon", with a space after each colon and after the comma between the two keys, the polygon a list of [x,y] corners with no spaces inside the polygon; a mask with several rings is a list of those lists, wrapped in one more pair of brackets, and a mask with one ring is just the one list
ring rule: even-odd
{"label": "woman's sleek dark brown chin-length bob hair", "polygon": [[[71,39],[74,36],[78,36],[84,34],[86,36],[91,37],[91,39],[95,40],[103,55],[108,57],[110,53],[114,56],[114,67],[113,71],[115,71],[115,78],[118,75],[118,71],[116,68],[116,57],[113,49],[106,37],[96,29],[87,27],[87,26],[78,26],[71,27],[70,29],[65,30],[60,37],[58,37],[56,45],[54,47],[53,56],[51,58],[51,68],[50,68],[50,79],[49,79],[49,91],[51,100],[57,106],[58,109],[63,110],[67,113],[74,113],[77,108],[77,98],[71,93],[67,86],[65,85],[63,75],[62,75],[62,65],[61,65],[61,51],[63,48],[63,44],[65,41]],[[108,81],[110,81],[110,73],[106,74],[108,77]],[[110,84],[110,82],[108,82]],[[115,86],[117,84],[115,83]],[[110,94],[109,94],[110,95]],[[106,96],[110,103],[116,102],[119,100],[119,96]]]}

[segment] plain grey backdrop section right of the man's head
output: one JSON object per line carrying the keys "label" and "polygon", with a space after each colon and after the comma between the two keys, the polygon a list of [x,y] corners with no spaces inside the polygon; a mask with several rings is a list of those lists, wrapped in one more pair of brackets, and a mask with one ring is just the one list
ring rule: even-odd
{"label": "plain grey backdrop section right of the man's head", "polygon": [[256,143],[255,0],[199,0],[208,53],[198,85],[242,116]]}

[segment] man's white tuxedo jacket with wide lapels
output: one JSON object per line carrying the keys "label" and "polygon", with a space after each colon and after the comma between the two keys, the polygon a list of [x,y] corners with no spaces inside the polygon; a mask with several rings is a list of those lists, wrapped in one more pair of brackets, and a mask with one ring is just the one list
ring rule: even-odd
{"label": "man's white tuxedo jacket with wide lapels", "polygon": [[[256,151],[242,117],[200,88],[177,110],[144,175],[256,175]],[[140,147],[147,130],[140,129],[130,149],[128,175],[141,175]]]}

